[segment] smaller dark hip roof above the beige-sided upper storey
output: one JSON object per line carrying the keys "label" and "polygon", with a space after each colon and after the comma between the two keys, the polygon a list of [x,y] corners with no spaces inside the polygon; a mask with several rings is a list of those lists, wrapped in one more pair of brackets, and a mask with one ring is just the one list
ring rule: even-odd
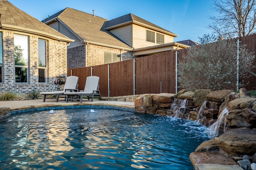
{"label": "smaller dark hip roof above the beige-sided upper storey", "polygon": [[135,23],[135,24],[138,24],[138,25],[143,25],[144,27],[148,27],[148,28],[151,28],[151,29],[156,29],[157,31],[162,31],[166,34],[169,34],[171,36],[174,36],[174,37],[178,37],[178,35],[162,28],[162,27],[159,27],[158,25],[155,25],[149,21],[146,21],[134,14],[126,14],[124,16],[121,16],[121,17],[118,17],[118,18],[115,18],[113,20],[110,20],[106,23],[106,26],[105,26],[105,29],[111,29],[113,27],[116,27],[116,26],[120,26],[120,25],[125,25],[125,24],[128,24],[128,23]]}

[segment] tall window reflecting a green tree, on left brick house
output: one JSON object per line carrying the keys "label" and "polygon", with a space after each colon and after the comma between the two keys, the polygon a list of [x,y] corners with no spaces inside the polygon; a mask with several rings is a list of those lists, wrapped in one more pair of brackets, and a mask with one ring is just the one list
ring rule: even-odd
{"label": "tall window reflecting a green tree, on left brick house", "polygon": [[14,35],[15,82],[28,82],[28,36]]}

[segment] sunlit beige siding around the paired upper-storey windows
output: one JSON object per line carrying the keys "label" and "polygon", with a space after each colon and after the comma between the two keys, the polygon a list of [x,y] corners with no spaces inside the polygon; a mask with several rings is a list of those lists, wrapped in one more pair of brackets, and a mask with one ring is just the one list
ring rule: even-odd
{"label": "sunlit beige siding around the paired upper-storey windows", "polygon": [[[134,49],[159,45],[157,43],[151,43],[151,42],[146,41],[146,30],[150,30],[150,29],[146,29],[139,25],[133,25],[133,47],[134,47]],[[153,31],[153,30],[150,30],[150,31]],[[153,32],[159,33],[156,31],[153,31]],[[160,34],[163,34],[163,33],[160,33]],[[172,43],[172,42],[174,42],[174,37],[164,34],[164,43]]]}

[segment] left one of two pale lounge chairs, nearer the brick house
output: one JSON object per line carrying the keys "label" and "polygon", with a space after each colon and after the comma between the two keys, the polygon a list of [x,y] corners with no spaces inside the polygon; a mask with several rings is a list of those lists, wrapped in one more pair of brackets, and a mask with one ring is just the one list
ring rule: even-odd
{"label": "left one of two pale lounge chairs, nearer the brick house", "polygon": [[[62,91],[54,91],[54,92],[41,92],[40,94],[44,95],[44,102],[47,95],[55,95],[56,102],[58,102],[59,97],[64,95],[64,92],[70,91],[78,91],[78,77],[77,76],[68,76],[66,78],[66,82]],[[66,100],[66,99],[65,99]]]}

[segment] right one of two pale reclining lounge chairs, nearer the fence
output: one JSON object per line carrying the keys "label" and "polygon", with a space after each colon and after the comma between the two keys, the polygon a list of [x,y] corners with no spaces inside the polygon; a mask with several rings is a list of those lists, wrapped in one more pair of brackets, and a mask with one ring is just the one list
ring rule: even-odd
{"label": "right one of two pale reclining lounge chairs, nearer the fence", "polygon": [[[100,95],[100,90],[99,90],[99,82],[100,78],[97,76],[88,76],[86,78],[85,86],[84,86],[84,91],[80,92],[64,92],[64,95],[67,96],[67,101],[68,100],[80,100],[80,103],[83,102],[83,96],[87,96],[88,100],[93,101],[93,98],[95,96],[99,96],[100,100],[102,100],[101,95]],[[74,98],[76,96],[76,98]]]}

